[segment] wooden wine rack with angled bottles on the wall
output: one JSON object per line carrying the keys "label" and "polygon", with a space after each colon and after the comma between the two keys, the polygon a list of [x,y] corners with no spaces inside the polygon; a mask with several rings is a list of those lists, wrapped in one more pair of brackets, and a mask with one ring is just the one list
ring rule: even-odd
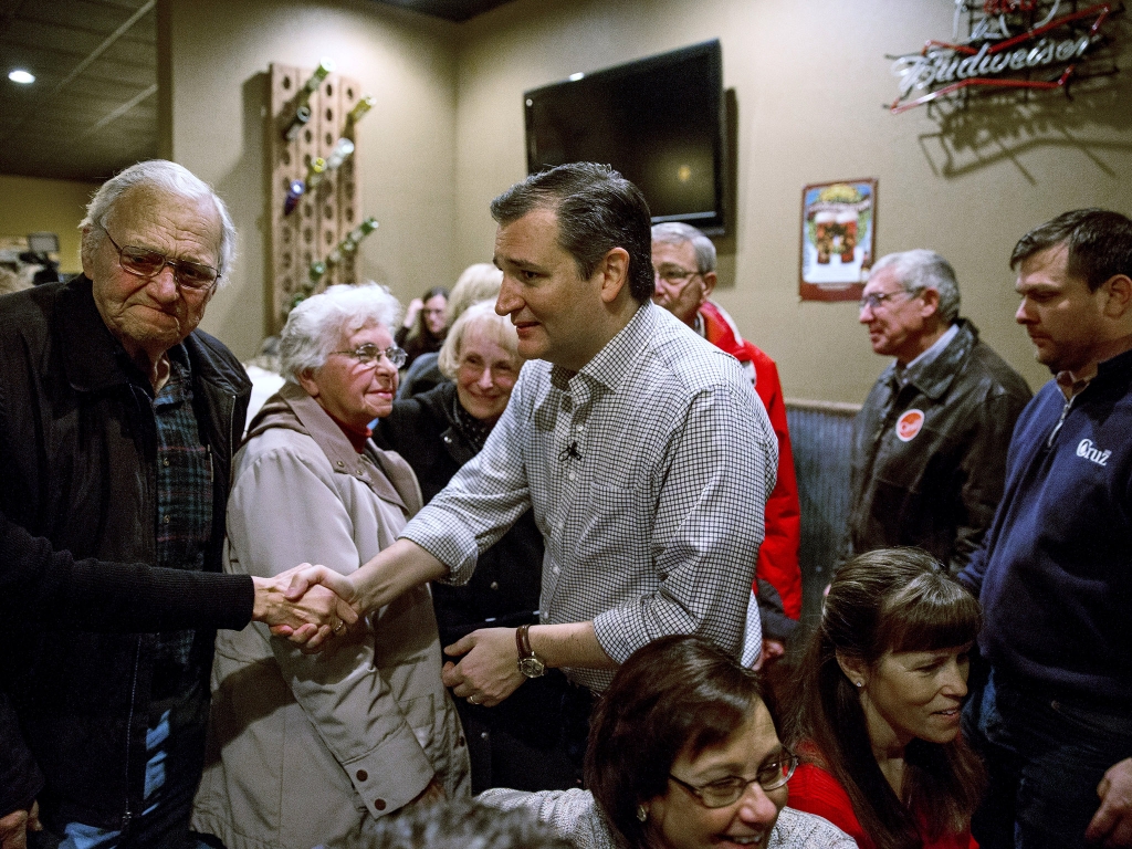
{"label": "wooden wine rack with angled bottles on the wall", "polygon": [[[310,121],[293,140],[284,138],[294,115],[295,96],[312,72],[312,68],[271,65],[269,333],[280,332],[295,294],[309,285],[311,263],[325,259],[365,217],[358,180],[358,139],[352,122],[348,121],[350,110],[363,96],[360,83],[329,74],[307,102]],[[285,215],[283,205],[291,181],[306,180],[307,162],[318,156],[327,158],[343,137],[353,142],[353,154],[334,171],[327,171],[314,190],[308,188],[298,206]],[[355,254],[351,254],[327,266],[315,291],[333,283],[357,283],[355,261]]]}

